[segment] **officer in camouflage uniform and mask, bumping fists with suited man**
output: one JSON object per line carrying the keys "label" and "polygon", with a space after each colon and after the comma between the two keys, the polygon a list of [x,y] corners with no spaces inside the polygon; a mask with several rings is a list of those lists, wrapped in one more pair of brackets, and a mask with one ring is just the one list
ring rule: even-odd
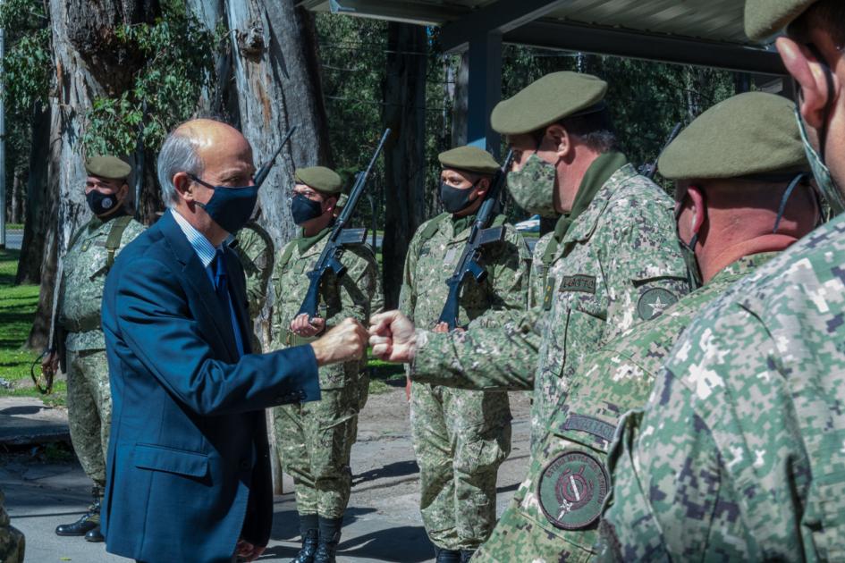
{"label": "officer in camouflage uniform and mask, bumping fists with suited man", "polygon": [[418,331],[412,345],[387,343],[388,324],[397,324],[394,336],[402,332],[396,315],[375,319],[374,351],[413,358],[417,381],[526,389],[533,377],[534,445],[581,359],[689,290],[672,199],[614,149],[606,88],[593,76],[555,72],[496,105],[491,118],[514,150],[511,196],[529,213],[562,213],[544,251],[551,258],[539,307],[500,329]]}

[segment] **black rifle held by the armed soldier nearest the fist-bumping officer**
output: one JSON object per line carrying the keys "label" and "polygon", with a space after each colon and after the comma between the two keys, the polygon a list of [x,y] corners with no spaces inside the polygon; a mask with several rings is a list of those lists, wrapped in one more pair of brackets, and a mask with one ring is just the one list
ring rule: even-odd
{"label": "black rifle held by the armed soldier nearest the fist-bumping officer", "polygon": [[484,203],[478,208],[476,220],[472,223],[472,230],[469,231],[469,239],[463,248],[461,259],[455,266],[452,276],[446,280],[446,285],[449,286],[449,297],[446,298],[438,323],[448,324],[450,331],[458,326],[458,298],[461,295],[463,281],[471,275],[478,283],[481,283],[487,277],[486,268],[478,264],[481,249],[488,244],[501,242],[504,239],[504,228],[502,226],[490,227],[490,224],[493,223],[495,206],[499,199],[499,193],[502,191],[504,180],[511,169],[512,160],[513,151],[509,151],[502,168],[499,169],[499,172],[496,172],[493,182],[490,184],[490,189],[487,190]]}

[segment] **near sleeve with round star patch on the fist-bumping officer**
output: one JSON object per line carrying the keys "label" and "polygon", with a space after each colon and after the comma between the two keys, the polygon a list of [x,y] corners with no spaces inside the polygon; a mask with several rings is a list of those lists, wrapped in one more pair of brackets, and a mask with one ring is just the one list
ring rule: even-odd
{"label": "near sleeve with round star patch on the fist-bumping officer", "polygon": [[[666,214],[665,217],[652,216]],[[610,303],[603,341],[650,321],[689,293],[687,267],[672,230],[671,209],[636,206],[613,223],[602,248]]]}

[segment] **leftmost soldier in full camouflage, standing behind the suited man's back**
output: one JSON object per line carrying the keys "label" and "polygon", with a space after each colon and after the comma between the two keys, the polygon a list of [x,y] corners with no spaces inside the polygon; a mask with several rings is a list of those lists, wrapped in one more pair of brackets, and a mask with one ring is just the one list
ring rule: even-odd
{"label": "leftmost soldier in full camouflage, standing behind the suited man's back", "polygon": [[95,156],[85,164],[85,195],[94,217],[77,231],[63,259],[54,342],[57,351],[43,368],[61,363],[67,375],[68,425],[73,450],[94,482],[89,511],[72,524],[59,525],[58,535],[84,535],[102,542],[100,500],[106,486],[106,451],[112,399],[106,363],[106,341],[100,330],[100,300],[114,258],[144,226],[133,221],[124,204],[129,194],[129,164],[114,156]]}

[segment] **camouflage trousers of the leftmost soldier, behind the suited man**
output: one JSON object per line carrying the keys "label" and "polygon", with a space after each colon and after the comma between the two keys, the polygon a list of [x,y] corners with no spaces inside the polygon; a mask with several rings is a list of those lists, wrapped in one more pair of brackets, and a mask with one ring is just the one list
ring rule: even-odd
{"label": "camouflage trousers of the leftmost soldier, behind the suited man", "polygon": [[106,350],[67,352],[67,418],[71,442],[85,475],[106,487],[106,451],[112,393]]}

